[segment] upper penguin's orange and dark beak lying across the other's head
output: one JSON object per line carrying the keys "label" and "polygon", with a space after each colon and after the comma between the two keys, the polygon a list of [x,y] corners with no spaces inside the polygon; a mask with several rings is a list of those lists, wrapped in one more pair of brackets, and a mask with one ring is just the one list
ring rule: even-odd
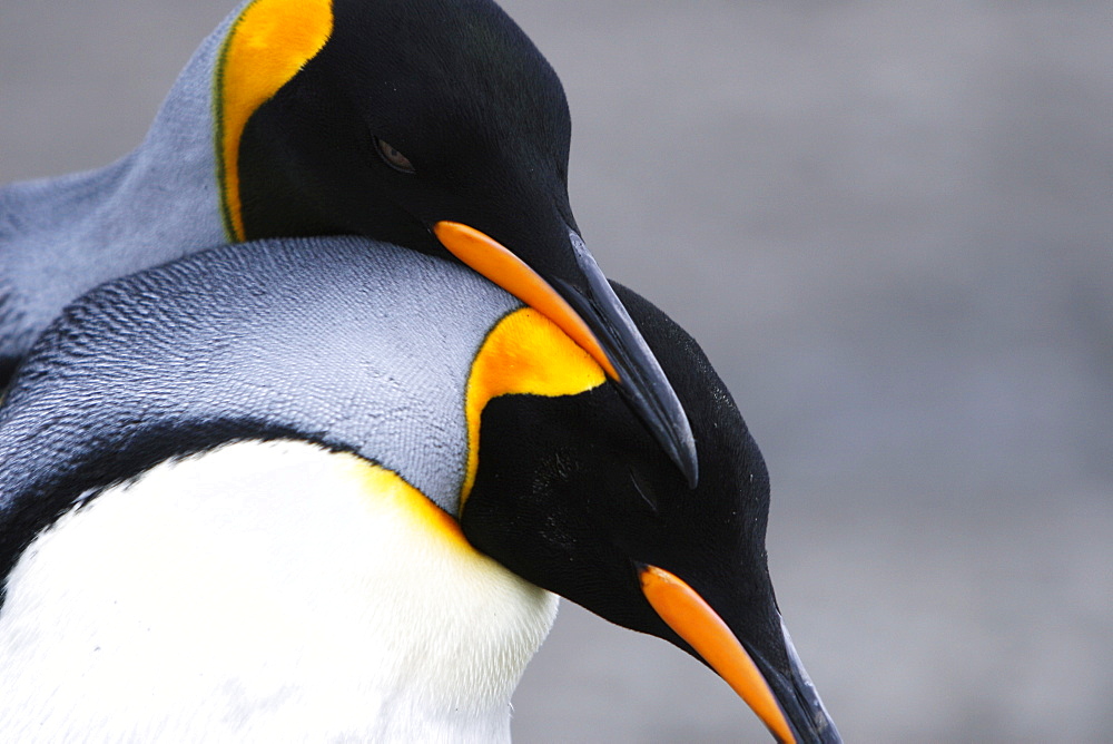
{"label": "upper penguin's orange and dark beak lying across the other's head", "polygon": [[661,365],[642,339],[583,241],[569,231],[585,291],[533,271],[489,235],[442,221],[433,234],[456,258],[535,309],[587,351],[614,381],[627,402],[680,468],[692,488],[699,481],[696,441],[688,417]]}

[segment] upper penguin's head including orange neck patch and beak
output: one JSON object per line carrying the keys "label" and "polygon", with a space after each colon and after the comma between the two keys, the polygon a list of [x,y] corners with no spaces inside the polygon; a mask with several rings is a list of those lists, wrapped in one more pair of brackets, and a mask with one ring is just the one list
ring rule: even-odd
{"label": "upper penguin's head including orange neck patch and beak", "polygon": [[690,424],[580,238],[555,72],[490,0],[255,0],[218,61],[233,239],[359,234],[451,255],[587,350],[698,480]]}

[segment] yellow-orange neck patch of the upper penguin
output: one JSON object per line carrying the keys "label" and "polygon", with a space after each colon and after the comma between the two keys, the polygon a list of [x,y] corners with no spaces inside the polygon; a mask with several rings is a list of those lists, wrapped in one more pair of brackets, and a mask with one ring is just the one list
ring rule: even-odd
{"label": "yellow-orange neck patch of the upper penguin", "polygon": [[220,212],[229,241],[246,239],[239,140],[247,119],[321,51],[332,33],[332,0],[255,0],[228,31],[213,98]]}

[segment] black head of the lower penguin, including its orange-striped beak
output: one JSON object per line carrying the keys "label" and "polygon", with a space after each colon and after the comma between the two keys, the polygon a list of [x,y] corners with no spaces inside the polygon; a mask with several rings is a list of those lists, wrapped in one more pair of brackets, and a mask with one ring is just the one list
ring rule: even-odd
{"label": "black head of the lower penguin, including its orange-striped beak", "polygon": [[692,422],[698,487],[660,457],[610,384],[504,395],[483,412],[464,533],[524,578],[703,660],[781,741],[837,741],[769,579],[761,453],[691,337],[619,294]]}

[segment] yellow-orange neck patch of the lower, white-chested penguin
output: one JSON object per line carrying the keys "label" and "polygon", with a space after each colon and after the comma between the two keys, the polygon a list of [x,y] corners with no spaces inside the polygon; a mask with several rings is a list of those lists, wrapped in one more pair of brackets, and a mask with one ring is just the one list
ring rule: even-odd
{"label": "yellow-orange neck patch of the lower, white-chested penguin", "polygon": [[607,380],[602,368],[548,317],[522,307],[487,333],[467,378],[467,472],[460,507],[475,483],[480,453],[480,417],[499,395],[577,395]]}

